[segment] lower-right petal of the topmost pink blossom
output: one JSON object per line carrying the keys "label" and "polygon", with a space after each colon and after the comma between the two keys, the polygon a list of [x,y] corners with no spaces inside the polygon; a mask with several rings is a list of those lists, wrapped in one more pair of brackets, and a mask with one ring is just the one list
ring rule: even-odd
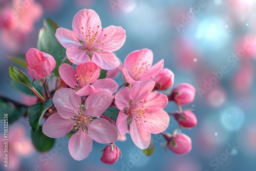
{"label": "lower-right petal of the topmost pink blossom", "polygon": [[115,69],[120,65],[118,58],[112,52],[94,52],[92,61],[103,70]]}

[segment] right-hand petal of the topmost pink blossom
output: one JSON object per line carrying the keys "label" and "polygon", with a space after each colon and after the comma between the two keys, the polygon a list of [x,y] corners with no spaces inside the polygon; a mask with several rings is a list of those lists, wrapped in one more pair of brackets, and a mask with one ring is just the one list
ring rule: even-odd
{"label": "right-hand petal of the topmost pink blossom", "polygon": [[125,42],[125,30],[122,27],[109,26],[101,32],[98,39],[103,43],[97,46],[103,51],[113,52],[120,49]]}

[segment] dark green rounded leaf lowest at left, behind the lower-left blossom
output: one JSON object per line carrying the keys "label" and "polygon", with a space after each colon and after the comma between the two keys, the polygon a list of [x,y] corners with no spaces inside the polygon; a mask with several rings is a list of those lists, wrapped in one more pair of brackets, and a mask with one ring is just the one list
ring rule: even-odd
{"label": "dark green rounded leaf lowest at left, behind the lower-left blossom", "polygon": [[54,145],[54,138],[47,137],[42,133],[42,126],[39,126],[38,131],[31,131],[31,138],[35,148],[39,152],[47,152]]}

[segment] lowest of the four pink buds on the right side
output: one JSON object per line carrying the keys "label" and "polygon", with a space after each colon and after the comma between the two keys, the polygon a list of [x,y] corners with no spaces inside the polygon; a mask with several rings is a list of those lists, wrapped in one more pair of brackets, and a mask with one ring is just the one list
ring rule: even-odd
{"label": "lowest of the four pink buds on the right side", "polygon": [[191,151],[192,143],[191,139],[185,134],[175,134],[170,136],[170,140],[167,141],[168,148],[178,155],[184,155]]}

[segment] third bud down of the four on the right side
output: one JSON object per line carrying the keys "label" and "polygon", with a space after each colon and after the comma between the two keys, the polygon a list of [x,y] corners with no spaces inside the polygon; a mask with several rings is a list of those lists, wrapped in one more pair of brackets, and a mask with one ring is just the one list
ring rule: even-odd
{"label": "third bud down of the four on the right side", "polygon": [[191,111],[176,112],[174,118],[178,121],[179,125],[185,128],[192,128],[197,125],[197,117]]}

